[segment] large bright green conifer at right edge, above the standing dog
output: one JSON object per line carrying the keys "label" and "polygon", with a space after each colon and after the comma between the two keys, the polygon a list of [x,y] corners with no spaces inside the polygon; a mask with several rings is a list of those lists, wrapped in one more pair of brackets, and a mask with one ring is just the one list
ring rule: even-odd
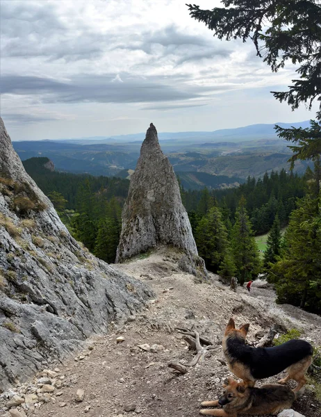
{"label": "large bright green conifer at right edge, above the standing dog", "polygon": [[321,312],[321,205],[307,195],[290,216],[283,256],[272,265],[278,301]]}

